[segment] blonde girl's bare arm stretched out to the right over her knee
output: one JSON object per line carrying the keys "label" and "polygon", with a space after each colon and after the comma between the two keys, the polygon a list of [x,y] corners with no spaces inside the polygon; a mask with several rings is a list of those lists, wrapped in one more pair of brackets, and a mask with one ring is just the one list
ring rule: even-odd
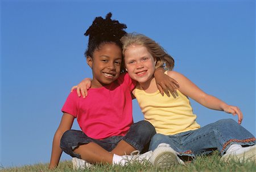
{"label": "blonde girl's bare arm stretched out to the right over her knee", "polygon": [[179,82],[179,91],[185,96],[191,97],[193,100],[199,102],[199,104],[214,110],[222,110],[226,113],[231,113],[233,115],[238,115],[238,123],[241,124],[243,119],[243,114],[241,110],[236,106],[230,106],[220,99],[210,96],[209,94],[201,91],[191,80],[186,78],[184,75],[179,74],[175,71],[169,71],[168,76],[174,78]]}

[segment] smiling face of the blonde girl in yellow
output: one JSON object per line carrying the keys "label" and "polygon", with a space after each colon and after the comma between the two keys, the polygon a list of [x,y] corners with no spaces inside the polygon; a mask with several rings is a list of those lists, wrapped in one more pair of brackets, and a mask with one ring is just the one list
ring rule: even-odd
{"label": "smiling face of the blonde girl in yellow", "polygon": [[140,84],[147,83],[155,72],[155,59],[147,48],[141,45],[130,45],[124,52],[125,67],[130,77]]}

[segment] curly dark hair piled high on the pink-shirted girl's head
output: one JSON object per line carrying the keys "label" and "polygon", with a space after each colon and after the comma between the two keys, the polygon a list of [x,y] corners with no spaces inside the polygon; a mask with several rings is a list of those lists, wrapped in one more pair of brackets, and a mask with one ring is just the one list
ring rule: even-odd
{"label": "curly dark hair piled high on the pink-shirted girl's head", "polygon": [[106,19],[101,16],[94,19],[92,25],[85,32],[85,36],[89,36],[88,48],[85,56],[93,57],[94,50],[100,48],[101,45],[113,42],[122,49],[120,38],[126,35],[124,29],[126,25],[119,23],[118,20],[112,20],[112,13],[106,15]]}

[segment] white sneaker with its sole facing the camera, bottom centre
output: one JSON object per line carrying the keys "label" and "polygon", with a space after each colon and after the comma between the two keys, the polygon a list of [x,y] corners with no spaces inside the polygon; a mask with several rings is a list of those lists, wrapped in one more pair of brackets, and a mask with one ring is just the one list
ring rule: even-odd
{"label": "white sneaker with its sole facing the camera, bottom centre", "polygon": [[184,162],[177,156],[177,152],[166,143],[158,145],[150,157],[150,162],[160,168],[167,168],[175,164],[184,165]]}

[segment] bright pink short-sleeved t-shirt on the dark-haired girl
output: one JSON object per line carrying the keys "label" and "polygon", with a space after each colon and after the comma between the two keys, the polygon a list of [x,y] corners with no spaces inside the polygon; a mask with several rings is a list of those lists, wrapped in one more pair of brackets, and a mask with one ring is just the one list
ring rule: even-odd
{"label": "bright pink short-sleeved t-shirt on the dark-haired girl", "polygon": [[125,73],[101,88],[90,88],[86,98],[69,94],[63,112],[73,115],[81,130],[93,139],[124,136],[133,124],[131,91],[136,83]]}

